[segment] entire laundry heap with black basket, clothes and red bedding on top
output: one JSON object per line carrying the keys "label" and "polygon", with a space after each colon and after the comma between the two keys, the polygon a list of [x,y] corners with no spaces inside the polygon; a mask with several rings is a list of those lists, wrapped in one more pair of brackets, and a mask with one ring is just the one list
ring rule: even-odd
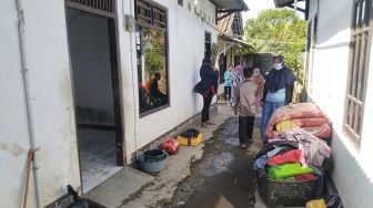
{"label": "entire laundry heap with black basket, clothes and red bedding on top", "polygon": [[[268,189],[264,194],[260,191],[263,199],[286,198],[290,204],[291,200],[296,204],[321,196],[324,167],[331,160],[331,147],[326,142],[332,136],[332,128],[325,114],[312,103],[280,107],[270,118],[266,136],[269,143],[256,154],[254,162],[260,177],[259,190],[265,190],[263,181],[281,184],[281,190],[273,188],[268,196]],[[298,189],[293,189],[295,186]]]}

